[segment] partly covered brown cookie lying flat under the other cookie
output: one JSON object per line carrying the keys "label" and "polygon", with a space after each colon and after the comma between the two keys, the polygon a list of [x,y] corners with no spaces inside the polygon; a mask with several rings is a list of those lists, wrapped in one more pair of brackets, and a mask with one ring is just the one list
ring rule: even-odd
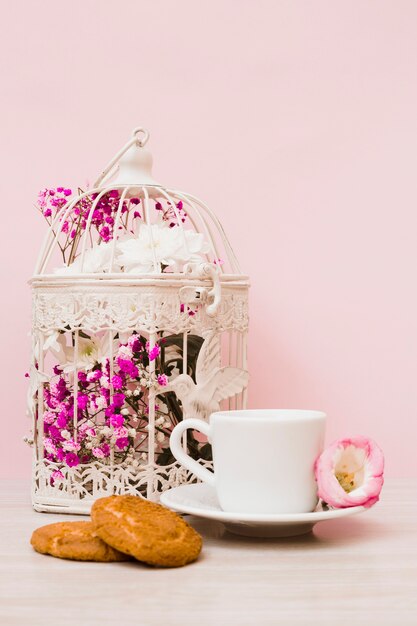
{"label": "partly covered brown cookie lying flat under the other cookie", "polygon": [[97,536],[91,522],[57,522],[37,528],[30,540],[41,554],[75,561],[126,561],[129,557],[118,552]]}

